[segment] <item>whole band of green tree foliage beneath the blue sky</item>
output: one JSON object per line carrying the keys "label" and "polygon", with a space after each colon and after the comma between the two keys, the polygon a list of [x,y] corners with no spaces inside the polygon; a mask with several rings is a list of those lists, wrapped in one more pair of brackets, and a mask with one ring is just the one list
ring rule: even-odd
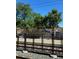
{"label": "whole band of green tree foliage beneath the blue sky", "polygon": [[[18,16],[20,15],[20,18]],[[53,9],[47,16],[33,13],[28,4],[17,3],[16,27],[29,28],[54,28],[62,21],[61,13]]]}

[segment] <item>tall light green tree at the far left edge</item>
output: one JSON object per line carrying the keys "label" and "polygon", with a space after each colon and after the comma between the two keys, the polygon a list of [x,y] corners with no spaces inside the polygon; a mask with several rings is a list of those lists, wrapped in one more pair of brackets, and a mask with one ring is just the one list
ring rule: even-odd
{"label": "tall light green tree at the far left edge", "polygon": [[26,20],[30,18],[32,9],[28,4],[17,3],[16,5],[16,26],[28,28]]}

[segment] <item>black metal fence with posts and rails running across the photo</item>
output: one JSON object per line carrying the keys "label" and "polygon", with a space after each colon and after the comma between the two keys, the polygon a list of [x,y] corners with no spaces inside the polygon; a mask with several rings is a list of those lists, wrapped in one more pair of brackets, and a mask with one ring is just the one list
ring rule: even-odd
{"label": "black metal fence with posts and rails running across the photo", "polygon": [[[50,36],[50,37],[49,37]],[[24,42],[19,41],[19,38],[22,37],[24,38]],[[50,38],[52,43],[51,44],[45,44],[44,43],[44,38]],[[45,34],[20,34],[16,35],[17,38],[17,44],[16,48],[17,50],[27,50],[29,52],[34,52],[34,53],[40,53],[40,54],[56,54],[57,56],[63,57],[63,36],[62,33],[56,33],[50,34],[50,35],[45,35]],[[32,42],[27,42],[27,38],[33,39]],[[36,43],[35,39],[36,38],[41,38],[41,43]],[[30,39],[29,39],[30,40]],[[60,40],[61,44],[54,44],[54,40]]]}

